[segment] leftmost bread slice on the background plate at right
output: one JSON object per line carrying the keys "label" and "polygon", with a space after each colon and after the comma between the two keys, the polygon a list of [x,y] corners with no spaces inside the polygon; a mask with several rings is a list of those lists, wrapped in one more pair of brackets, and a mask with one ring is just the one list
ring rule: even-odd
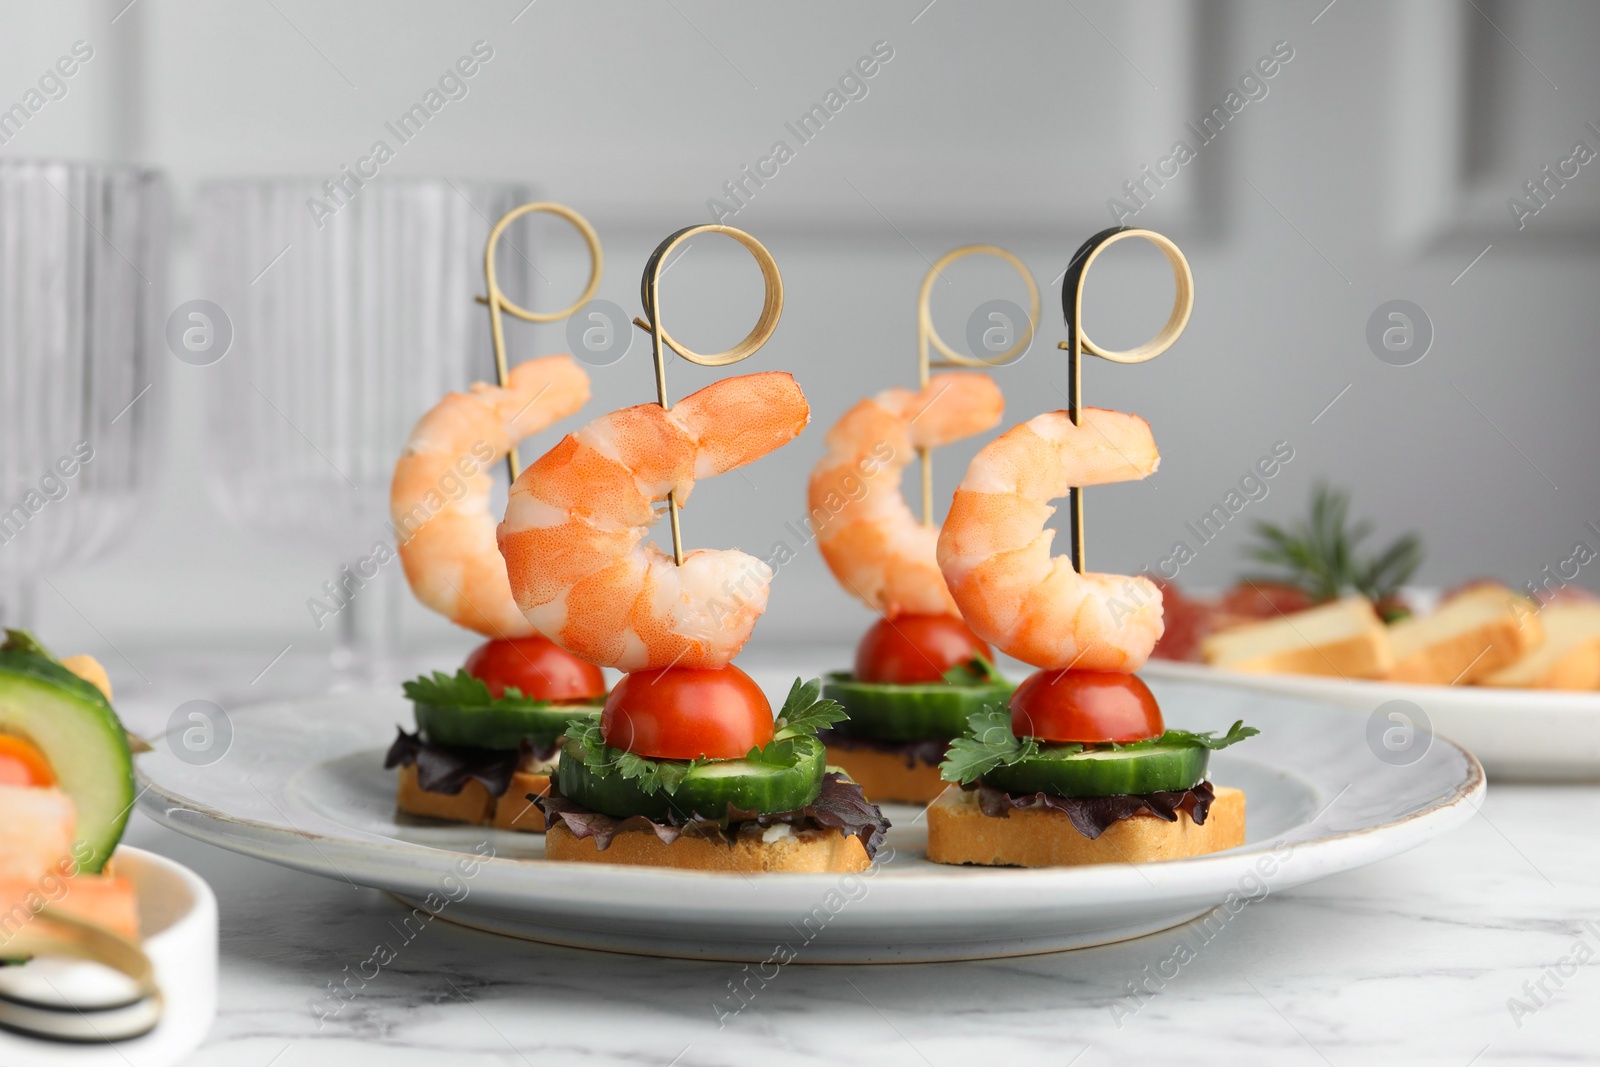
{"label": "leftmost bread slice on the background plate at right", "polygon": [[1222,630],[1200,651],[1213,667],[1248,673],[1381,678],[1394,669],[1389,629],[1365,597]]}

